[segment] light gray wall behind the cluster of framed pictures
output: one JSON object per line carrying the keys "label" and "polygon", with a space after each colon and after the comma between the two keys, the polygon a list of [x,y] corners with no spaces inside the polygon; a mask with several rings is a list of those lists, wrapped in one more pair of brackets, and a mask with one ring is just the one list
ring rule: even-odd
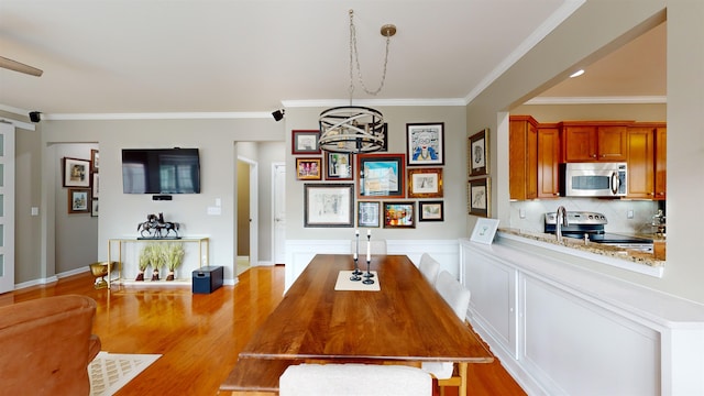
{"label": "light gray wall behind the cluster of framed pictures", "polygon": [[[443,177],[443,202],[444,221],[442,222],[418,222],[416,213],[415,229],[373,229],[373,238],[387,240],[416,240],[416,239],[457,239],[469,237],[465,232],[464,213],[466,213],[466,122],[464,118],[464,107],[375,107],[384,114],[385,122],[388,123],[388,153],[406,154],[406,124],[422,122],[444,122],[444,166],[442,166]],[[292,130],[315,130],[318,127],[318,116],[323,108],[287,108],[286,109],[286,166],[295,169],[295,155],[290,155]],[[306,157],[322,155],[306,155]],[[356,158],[353,172],[358,173]],[[324,169],[324,167],[323,167]],[[316,239],[353,239],[354,228],[306,228],[304,227],[304,186],[308,183],[331,183],[326,182],[304,182],[296,179],[295,172],[286,175],[286,235],[289,240]],[[340,184],[355,183],[354,180],[332,182]],[[372,201],[413,201],[415,198],[383,198],[365,199]],[[356,215],[356,188],[354,198],[354,215]],[[353,227],[356,227],[356,216]]]}

